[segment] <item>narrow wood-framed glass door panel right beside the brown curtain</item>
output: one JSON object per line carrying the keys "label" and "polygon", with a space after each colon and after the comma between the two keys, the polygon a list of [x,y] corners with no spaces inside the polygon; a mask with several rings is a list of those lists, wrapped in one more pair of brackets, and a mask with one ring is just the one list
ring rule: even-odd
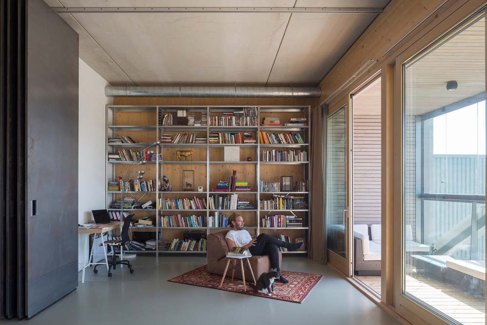
{"label": "narrow wood-framed glass door panel right beside the brown curtain", "polygon": [[[326,133],[326,220],[328,249],[347,254],[347,108],[328,117]],[[349,265],[348,263],[346,265]],[[347,272],[348,273],[348,272]]]}

